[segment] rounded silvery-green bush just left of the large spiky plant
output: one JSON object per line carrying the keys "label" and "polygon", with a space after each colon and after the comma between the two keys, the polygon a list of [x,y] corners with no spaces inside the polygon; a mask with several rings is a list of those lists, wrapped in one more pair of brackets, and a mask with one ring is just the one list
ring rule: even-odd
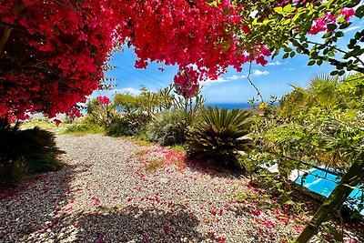
{"label": "rounded silvery-green bush just left of the large spiky plant", "polygon": [[147,126],[148,139],[163,146],[185,143],[190,120],[187,116],[188,114],[179,110],[157,114]]}

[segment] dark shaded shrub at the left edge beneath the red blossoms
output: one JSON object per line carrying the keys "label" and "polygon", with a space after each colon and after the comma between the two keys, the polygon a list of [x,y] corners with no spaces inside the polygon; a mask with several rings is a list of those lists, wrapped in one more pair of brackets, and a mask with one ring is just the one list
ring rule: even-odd
{"label": "dark shaded shrub at the left edge beneath the red blossoms", "polygon": [[38,127],[19,130],[14,127],[0,128],[0,180],[15,182],[24,172],[35,173],[60,167],[56,156],[62,153],[56,147],[53,133]]}

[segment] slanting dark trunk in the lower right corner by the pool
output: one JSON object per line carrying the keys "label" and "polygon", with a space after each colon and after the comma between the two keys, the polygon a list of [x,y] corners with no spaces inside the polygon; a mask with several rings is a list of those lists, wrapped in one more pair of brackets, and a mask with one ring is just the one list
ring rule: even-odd
{"label": "slanting dark trunk in the lower right corner by the pool", "polygon": [[321,205],[315,216],[309,221],[306,228],[297,238],[297,242],[308,242],[309,238],[316,234],[321,223],[327,220],[329,215],[331,215],[335,210],[338,210],[344,201],[349,197],[349,194],[353,190],[352,187],[356,187],[363,179],[364,163],[362,161],[356,161],[349,168],[347,174],[342,177],[338,186],[335,187],[328,199],[326,199],[326,201]]}

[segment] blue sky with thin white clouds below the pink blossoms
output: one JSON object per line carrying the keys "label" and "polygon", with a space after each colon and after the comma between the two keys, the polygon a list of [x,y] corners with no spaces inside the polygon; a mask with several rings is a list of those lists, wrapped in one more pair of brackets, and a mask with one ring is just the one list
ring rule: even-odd
{"label": "blue sky with thin white clouds below the pink blossoms", "polygon": [[[346,30],[339,46],[346,48],[344,44],[348,43],[349,36],[361,30],[362,25],[363,20],[355,20]],[[319,36],[312,36],[312,39],[318,40]],[[110,65],[116,66],[116,69],[108,71],[106,76],[116,78],[116,86],[109,91],[96,91],[92,96],[103,95],[111,98],[116,92],[136,95],[141,86],[157,91],[171,84],[177,74],[177,66],[164,66],[160,63],[151,63],[147,69],[136,69],[135,60],[136,55],[131,48],[126,47],[123,52],[115,53]],[[308,57],[303,55],[288,59],[277,56],[274,60],[269,58],[267,66],[253,65],[250,77],[266,100],[269,96],[279,98],[292,90],[290,85],[306,86],[312,76],[329,74],[333,70],[329,64],[307,66],[307,63]],[[165,71],[161,72],[158,67],[163,67]],[[241,73],[230,68],[217,81],[203,83],[202,95],[207,103],[246,103],[248,99],[258,97],[255,89],[248,83],[248,67],[248,64],[244,65]]]}

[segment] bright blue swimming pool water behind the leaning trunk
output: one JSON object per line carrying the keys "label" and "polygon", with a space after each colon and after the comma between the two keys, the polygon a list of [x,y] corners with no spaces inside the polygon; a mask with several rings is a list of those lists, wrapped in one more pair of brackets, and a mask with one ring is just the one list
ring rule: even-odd
{"label": "bright blue swimming pool water behind the leaning trunk", "polygon": [[[340,177],[333,174],[327,173],[320,169],[314,169],[309,172],[308,176],[305,177],[303,181],[303,186],[307,187],[311,191],[319,193],[325,197],[329,197],[329,194],[334,190],[337,183],[340,181]],[[301,185],[302,175],[298,177],[296,183]],[[364,198],[363,191],[354,189],[349,195],[350,198],[357,201],[357,203],[363,203],[362,198]],[[350,203],[348,203],[350,204]],[[354,208],[358,208],[358,205],[354,205]],[[360,211],[361,215],[364,215],[364,209]]]}

